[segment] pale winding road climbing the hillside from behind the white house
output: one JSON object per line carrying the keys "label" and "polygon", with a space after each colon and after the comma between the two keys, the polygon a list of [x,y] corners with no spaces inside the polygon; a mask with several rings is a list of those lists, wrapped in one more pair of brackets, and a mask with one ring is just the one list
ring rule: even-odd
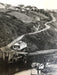
{"label": "pale winding road climbing the hillside from behind the white house", "polygon": [[[5,46],[5,47],[6,47],[6,48],[10,48],[14,43],[16,43],[17,41],[20,41],[25,35],[33,35],[33,34],[41,33],[41,32],[43,32],[43,31],[46,31],[46,30],[50,29],[50,26],[49,26],[48,24],[50,24],[50,23],[56,21],[56,19],[55,19],[55,17],[53,16],[53,14],[50,13],[50,15],[51,15],[51,17],[52,17],[52,20],[45,23],[45,28],[44,28],[44,29],[42,29],[42,30],[40,30],[40,31],[32,32],[32,33],[23,34],[23,35],[19,36],[17,39],[15,39],[14,41],[12,41],[11,43],[9,43],[9,44],[8,44],[7,46]],[[2,48],[0,48],[0,49],[3,51],[3,50],[4,50],[4,47],[2,47]],[[42,51],[41,51],[40,53],[42,53]],[[48,52],[47,52],[47,53],[48,53]]]}

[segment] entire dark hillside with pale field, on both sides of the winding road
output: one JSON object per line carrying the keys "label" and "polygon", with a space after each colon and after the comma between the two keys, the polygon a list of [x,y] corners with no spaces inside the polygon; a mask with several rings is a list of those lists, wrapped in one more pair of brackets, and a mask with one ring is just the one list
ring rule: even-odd
{"label": "entire dark hillside with pale field, on both sides of the winding road", "polygon": [[0,12],[0,47],[6,46],[20,35],[35,32],[39,25],[38,30],[44,29],[45,23],[52,20],[50,13],[55,13],[56,22],[49,24],[49,30],[34,35],[26,35],[22,40],[27,42],[28,50],[31,51],[56,49],[57,13],[43,9],[25,9],[25,12],[22,12],[20,9],[13,11],[12,9],[4,8],[3,10],[8,12]]}

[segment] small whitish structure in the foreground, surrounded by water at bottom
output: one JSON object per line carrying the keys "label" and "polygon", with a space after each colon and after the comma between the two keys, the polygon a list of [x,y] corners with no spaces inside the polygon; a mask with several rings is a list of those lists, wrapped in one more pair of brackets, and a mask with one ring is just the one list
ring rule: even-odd
{"label": "small whitish structure in the foreground, surrounded by water at bottom", "polygon": [[31,75],[41,75],[42,69],[44,69],[44,64],[40,64],[37,62],[32,63],[32,71]]}

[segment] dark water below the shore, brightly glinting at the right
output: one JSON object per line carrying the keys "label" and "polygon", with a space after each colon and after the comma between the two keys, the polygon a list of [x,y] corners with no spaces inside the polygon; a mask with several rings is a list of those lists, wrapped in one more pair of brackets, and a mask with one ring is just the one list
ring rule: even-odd
{"label": "dark water below the shore, brightly glinting at the right", "polygon": [[45,65],[42,75],[54,75],[54,73],[57,75],[57,53],[29,56],[26,64],[21,61],[13,64],[0,64],[0,75],[14,75],[24,70],[30,70],[32,62],[39,62]]}

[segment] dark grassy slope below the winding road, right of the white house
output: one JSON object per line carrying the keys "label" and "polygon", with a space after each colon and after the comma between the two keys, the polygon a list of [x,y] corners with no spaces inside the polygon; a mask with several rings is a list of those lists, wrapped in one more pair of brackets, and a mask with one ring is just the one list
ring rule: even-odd
{"label": "dark grassy slope below the winding road, right of the white house", "polygon": [[[57,20],[57,13],[54,16]],[[29,42],[31,46],[33,44],[35,44],[36,46],[35,49],[33,47],[31,50],[35,51],[37,48],[38,48],[37,50],[44,50],[44,49],[47,50],[57,48],[57,31],[55,31],[55,28],[57,29],[57,21],[49,25],[51,26],[49,30],[31,36],[27,35],[25,37],[25,41]],[[31,46],[29,47],[29,50]]]}

